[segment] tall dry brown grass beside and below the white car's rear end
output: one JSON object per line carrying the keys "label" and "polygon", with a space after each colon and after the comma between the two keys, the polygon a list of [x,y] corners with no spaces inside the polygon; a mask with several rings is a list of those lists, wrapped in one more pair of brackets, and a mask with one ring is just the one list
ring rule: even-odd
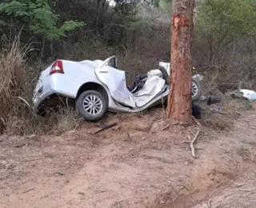
{"label": "tall dry brown grass beside and below the white car's rear end", "polygon": [[62,134],[74,130],[80,120],[72,108],[53,111],[46,118],[34,114],[31,101],[38,70],[26,64],[27,51],[15,38],[0,56],[0,134]]}

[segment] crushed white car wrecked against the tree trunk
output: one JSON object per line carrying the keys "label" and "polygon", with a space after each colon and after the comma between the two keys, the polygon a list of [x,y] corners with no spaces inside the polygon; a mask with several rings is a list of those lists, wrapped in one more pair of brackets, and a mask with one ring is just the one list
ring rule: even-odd
{"label": "crushed white car wrecked against the tree trunk", "polygon": [[[169,94],[170,63],[159,62],[158,70],[138,76],[126,86],[126,71],[118,70],[115,56],[102,60],[73,62],[56,60],[43,70],[34,90],[38,113],[54,107],[54,98],[70,98],[87,121],[98,121],[106,111],[139,112],[166,100]],[[200,79],[200,78],[199,78]],[[192,100],[201,96],[196,77],[192,78]]]}

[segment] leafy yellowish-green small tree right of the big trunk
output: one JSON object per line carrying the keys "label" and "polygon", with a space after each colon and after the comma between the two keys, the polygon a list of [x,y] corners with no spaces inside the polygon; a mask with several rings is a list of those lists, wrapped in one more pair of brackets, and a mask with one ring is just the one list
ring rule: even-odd
{"label": "leafy yellowish-green small tree right of the big trunk", "polygon": [[203,0],[198,2],[195,38],[206,40],[209,63],[221,61],[228,46],[256,34],[256,10],[248,0]]}

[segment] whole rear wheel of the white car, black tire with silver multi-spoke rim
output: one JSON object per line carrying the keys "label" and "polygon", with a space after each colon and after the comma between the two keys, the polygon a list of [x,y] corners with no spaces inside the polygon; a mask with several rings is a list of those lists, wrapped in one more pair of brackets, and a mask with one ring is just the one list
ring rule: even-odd
{"label": "whole rear wheel of the white car, black tire with silver multi-spoke rim", "polygon": [[95,90],[87,90],[78,96],[76,110],[86,121],[97,122],[106,114],[106,98]]}

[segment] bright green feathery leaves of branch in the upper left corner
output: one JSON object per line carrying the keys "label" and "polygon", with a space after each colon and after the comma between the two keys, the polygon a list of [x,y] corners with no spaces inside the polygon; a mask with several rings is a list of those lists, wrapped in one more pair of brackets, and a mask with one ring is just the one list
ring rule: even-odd
{"label": "bright green feathery leaves of branch in the upper left corner", "polygon": [[[0,3],[0,14],[8,22],[22,22],[33,34],[42,35],[52,41],[66,36],[66,33],[84,26],[84,22],[68,21],[58,26],[59,17],[54,14],[47,0],[14,0]],[[0,22],[5,26],[6,22]]]}

